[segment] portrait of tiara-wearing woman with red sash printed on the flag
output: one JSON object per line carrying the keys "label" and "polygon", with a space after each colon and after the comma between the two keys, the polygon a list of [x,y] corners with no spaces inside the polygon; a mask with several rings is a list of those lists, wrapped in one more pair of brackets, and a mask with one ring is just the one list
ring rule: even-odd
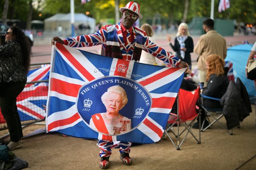
{"label": "portrait of tiara-wearing woman with red sash printed on the flag", "polygon": [[105,113],[92,115],[89,126],[104,134],[115,135],[126,133],[131,130],[131,119],[122,116],[119,111],[128,102],[124,88],[119,85],[108,88],[101,97],[106,107]]}

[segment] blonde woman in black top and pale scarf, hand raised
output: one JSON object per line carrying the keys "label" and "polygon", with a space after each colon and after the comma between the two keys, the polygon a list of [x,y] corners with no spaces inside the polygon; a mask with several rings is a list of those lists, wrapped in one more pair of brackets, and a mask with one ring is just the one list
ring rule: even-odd
{"label": "blonde woman in black top and pale scarf, hand raised", "polygon": [[190,53],[193,52],[194,43],[192,37],[190,37],[188,31],[188,25],[186,23],[180,23],[178,27],[178,33],[174,40],[174,45],[171,43],[171,36],[167,35],[167,41],[172,47],[173,51],[176,52],[176,57],[188,63],[191,69],[191,56]]}

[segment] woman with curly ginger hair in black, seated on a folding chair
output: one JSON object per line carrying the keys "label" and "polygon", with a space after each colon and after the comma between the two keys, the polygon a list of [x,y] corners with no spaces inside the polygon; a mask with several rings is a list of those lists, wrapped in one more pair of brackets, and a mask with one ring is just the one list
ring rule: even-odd
{"label": "woman with curly ginger hair in black, seated on a folding chair", "polygon": [[[206,82],[207,87],[201,90],[204,96],[212,98],[221,98],[227,91],[229,80],[224,72],[225,61],[218,55],[212,54],[206,58]],[[210,108],[220,108],[220,102],[216,100],[204,98],[204,106]],[[205,112],[202,109],[201,120],[204,120]],[[202,123],[202,121],[201,121]],[[208,121],[204,123],[204,127],[209,125]],[[203,127],[203,128],[204,128]],[[199,121],[193,125],[193,128],[199,128]]]}

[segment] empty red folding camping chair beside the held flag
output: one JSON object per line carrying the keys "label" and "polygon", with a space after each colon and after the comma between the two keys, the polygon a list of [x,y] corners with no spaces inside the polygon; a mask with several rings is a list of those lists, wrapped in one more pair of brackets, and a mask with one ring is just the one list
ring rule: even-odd
{"label": "empty red folding camping chair beside the held flag", "polygon": [[[200,98],[200,88],[198,87],[194,91],[188,91],[181,89],[178,92],[177,96],[177,114],[170,113],[170,117],[172,117],[172,120],[168,120],[168,124],[172,124],[168,128],[165,129],[164,135],[167,135],[168,138],[171,140],[174,147],[176,147],[177,150],[180,150],[181,145],[185,141],[188,133],[190,133],[194,139],[196,139],[197,143],[201,143],[201,132],[200,128],[198,130],[199,132],[199,139],[196,138],[196,136],[192,133],[191,127],[194,125],[195,120],[198,116],[200,116],[200,113],[196,112],[196,102]],[[200,111],[199,111],[200,112]],[[187,123],[188,122],[188,123]],[[177,124],[177,135],[172,131],[172,128],[174,125]],[[180,129],[180,125],[183,125],[184,128]],[[182,130],[180,132],[180,130]],[[177,145],[174,143],[170,135],[168,134],[168,131],[173,133],[175,137],[177,138]],[[180,135],[186,131],[186,134],[182,141],[180,142]]]}

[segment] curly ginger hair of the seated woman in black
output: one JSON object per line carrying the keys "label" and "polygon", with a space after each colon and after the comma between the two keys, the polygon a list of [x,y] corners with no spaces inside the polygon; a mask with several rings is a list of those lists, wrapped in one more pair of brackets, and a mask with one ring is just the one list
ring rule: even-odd
{"label": "curly ginger hair of the seated woman in black", "polygon": [[205,61],[209,64],[209,68],[206,73],[206,81],[209,80],[212,74],[216,74],[217,76],[224,74],[223,66],[225,65],[225,61],[216,54],[209,55]]}

